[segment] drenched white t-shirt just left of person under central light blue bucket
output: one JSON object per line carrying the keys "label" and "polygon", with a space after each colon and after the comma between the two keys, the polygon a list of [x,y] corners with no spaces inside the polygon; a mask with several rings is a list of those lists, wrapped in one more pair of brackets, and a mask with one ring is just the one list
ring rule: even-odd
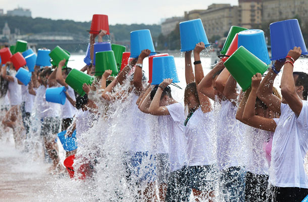
{"label": "drenched white t-shirt just left of person under central light blue bucket", "polygon": [[133,94],[132,104],[131,104],[131,113],[132,115],[132,125],[130,130],[131,137],[131,151],[149,151],[150,146],[150,137],[149,137],[149,124],[147,120],[149,120],[148,114],[142,113],[138,106],[136,105],[138,96]]}

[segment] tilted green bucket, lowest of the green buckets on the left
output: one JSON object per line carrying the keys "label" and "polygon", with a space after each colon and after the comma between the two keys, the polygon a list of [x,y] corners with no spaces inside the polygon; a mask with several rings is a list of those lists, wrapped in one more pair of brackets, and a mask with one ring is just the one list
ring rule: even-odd
{"label": "tilted green bucket, lowest of the green buckets on the left", "polygon": [[83,96],[85,94],[82,89],[84,83],[91,85],[93,82],[93,77],[87,75],[79,70],[72,69],[67,75],[65,82],[71,86],[79,95]]}

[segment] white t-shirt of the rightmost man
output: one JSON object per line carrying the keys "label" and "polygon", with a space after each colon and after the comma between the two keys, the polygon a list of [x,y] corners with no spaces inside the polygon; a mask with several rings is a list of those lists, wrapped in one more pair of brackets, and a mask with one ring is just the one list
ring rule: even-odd
{"label": "white t-shirt of the rightmost man", "polygon": [[304,170],[308,150],[308,102],[302,100],[298,117],[289,105],[281,104],[281,116],[275,122],[269,181],[278,187],[308,188]]}

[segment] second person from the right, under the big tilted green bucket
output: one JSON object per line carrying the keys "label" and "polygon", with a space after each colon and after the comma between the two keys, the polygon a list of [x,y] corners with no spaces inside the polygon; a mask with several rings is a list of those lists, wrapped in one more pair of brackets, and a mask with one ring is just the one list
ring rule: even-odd
{"label": "second person from the right, under the big tilted green bucket", "polygon": [[[260,85],[262,75],[260,73],[254,75],[251,81],[251,88],[248,89],[236,113],[236,119],[251,127],[248,128],[246,135],[249,139],[247,141],[249,161],[246,166],[246,183],[245,183],[245,201],[266,201],[267,188],[269,179],[269,167],[266,165],[266,160],[270,159],[267,156],[267,150],[264,145],[273,138],[274,128],[271,131],[265,131],[265,123],[271,123],[269,118],[276,118],[278,115],[269,110],[269,108],[256,97],[256,91]],[[250,91],[251,90],[251,91]],[[273,87],[273,94],[281,98],[279,92]],[[278,116],[279,117],[279,116]],[[261,130],[260,130],[261,129]],[[270,145],[271,147],[271,145]],[[269,151],[269,155],[271,150]]]}

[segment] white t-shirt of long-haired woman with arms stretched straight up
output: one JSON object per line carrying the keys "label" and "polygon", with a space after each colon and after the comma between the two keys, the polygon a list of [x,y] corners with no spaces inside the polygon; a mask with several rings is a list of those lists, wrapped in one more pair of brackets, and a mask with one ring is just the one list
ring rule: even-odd
{"label": "white t-shirt of long-haired woman with arms stretched straight up", "polygon": [[188,166],[206,166],[215,164],[214,111],[203,113],[197,109],[190,117],[185,136],[188,141]]}

